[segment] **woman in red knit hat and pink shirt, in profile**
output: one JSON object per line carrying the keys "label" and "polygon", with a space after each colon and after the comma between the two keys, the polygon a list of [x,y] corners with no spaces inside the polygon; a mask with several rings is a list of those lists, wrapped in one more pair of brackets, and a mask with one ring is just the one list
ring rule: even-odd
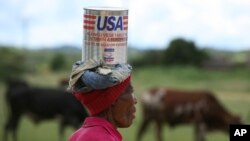
{"label": "woman in red knit hat and pink shirt, in profile", "polygon": [[89,111],[80,129],[69,141],[121,141],[117,128],[126,128],[135,118],[136,98],[133,96],[131,77],[112,87],[74,95]]}

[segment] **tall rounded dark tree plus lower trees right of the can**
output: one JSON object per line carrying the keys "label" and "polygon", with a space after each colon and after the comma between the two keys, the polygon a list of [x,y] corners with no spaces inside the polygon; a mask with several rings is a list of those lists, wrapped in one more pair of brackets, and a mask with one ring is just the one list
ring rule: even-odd
{"label": "tall rounded dark tree plus lower trees right of the can", "polygon": [[193,41],[182,38],[172,40],[162,49],[149,49],[129,60],[134,66],[147,65],[191,65],[200,67],[209,58],[209,54],[199,49]]}

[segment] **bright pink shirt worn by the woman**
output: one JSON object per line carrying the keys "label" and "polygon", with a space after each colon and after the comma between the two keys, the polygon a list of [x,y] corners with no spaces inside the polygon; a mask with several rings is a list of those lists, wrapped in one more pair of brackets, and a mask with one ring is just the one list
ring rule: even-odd
{"label": "bright pink shirt worn by the woman", "polygon": [[106,119],[87,117],[69,141],[121,141],[122,136],[118,130]]}

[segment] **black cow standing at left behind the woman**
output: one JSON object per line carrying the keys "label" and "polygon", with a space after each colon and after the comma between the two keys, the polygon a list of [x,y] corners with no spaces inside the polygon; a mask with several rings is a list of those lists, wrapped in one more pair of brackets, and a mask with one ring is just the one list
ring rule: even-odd
{"label": "black cow standing at left behind the woman", "polygon": [[30,87],[19,80],[7,82],[6,101],[10,112],[5,124],[4,141],[7,141],[9,132],[13,134],[13,140],[17,141],[18,124],[24,114],[29,115],[34,123],[59,118],[60,140],[63,139],[66,126],[79,128],[87,116],[86,110],[71,93],[60,89]]}

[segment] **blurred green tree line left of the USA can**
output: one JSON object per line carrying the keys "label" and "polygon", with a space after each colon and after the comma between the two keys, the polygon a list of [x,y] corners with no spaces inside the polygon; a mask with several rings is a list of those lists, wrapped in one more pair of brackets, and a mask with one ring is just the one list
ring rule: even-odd
{"label": "blurred green tree line left of the USA can", "polygon": [[[67,49],[67,50],[65,50]],[[23,49],[0,45],[0,81],[25,74],[71,71],[81,53],[74,47],[57,49]]]}

